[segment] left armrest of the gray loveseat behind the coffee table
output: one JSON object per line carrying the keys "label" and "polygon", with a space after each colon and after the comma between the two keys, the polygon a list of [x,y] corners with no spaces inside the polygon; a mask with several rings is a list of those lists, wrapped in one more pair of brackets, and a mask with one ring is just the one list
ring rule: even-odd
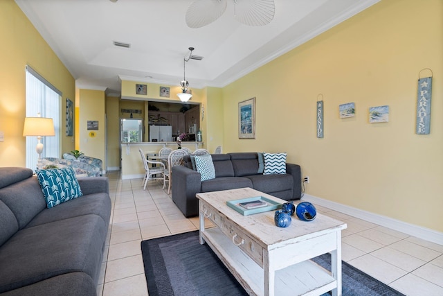
{"label": "left armrest of the gray loveseat behind the coffee table", "polygon": [[199,200],[195,197],[201,190],[201,175],[186,166],[172,167],[172,201],[183,215],[188,217],[199,214]]}

